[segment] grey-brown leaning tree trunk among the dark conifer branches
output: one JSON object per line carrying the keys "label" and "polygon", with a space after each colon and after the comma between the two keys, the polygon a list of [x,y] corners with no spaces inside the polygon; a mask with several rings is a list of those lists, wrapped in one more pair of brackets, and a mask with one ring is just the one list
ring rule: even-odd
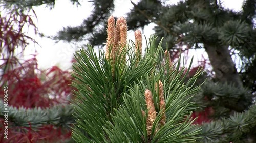
{"label": "grey-brown leaning tree trunk among the dark conifer branches", "polygon": [[205,45],[204,48],[214,68],[216,79],[221,83],[227,82],[234,84],[236,87],[242,87],[243,83],[238,75],[228,47]]}

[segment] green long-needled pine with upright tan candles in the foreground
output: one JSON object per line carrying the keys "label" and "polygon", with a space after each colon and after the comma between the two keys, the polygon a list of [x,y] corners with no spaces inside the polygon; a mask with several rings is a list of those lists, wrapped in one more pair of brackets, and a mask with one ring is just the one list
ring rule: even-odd
{"label": "green long-needled pine with upright tan candles in the foreground", "polygon": [[[97,55],[91,46],[75,53],[73,101],[77,142],[197,142],[201,128],[192,125],[189,102],[199,87],[197,74],[186,84],[185,67],[170,61],[156,37],[142,56],[142,35],[127,45],[126,20],[108,19],[106,51]],[[156,48],[157,47],[157,48]],[[129,52],[131,51],[131,52]],[[156,55],[165,54],[165,63]],[[191,66],[191,65],[190,65]],[[178,68],[179,67],[179,68]]]}

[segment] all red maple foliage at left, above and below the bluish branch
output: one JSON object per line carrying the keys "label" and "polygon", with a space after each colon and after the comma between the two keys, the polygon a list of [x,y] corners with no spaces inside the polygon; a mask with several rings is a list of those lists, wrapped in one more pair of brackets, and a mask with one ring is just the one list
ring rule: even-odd
{"label": "all red maple foliage at left, above and below the bluish branch", "polygon": [[[33,11],[33,10],[32,10]],[[23,32],[23,27],[36,26],[28,14],[29,11],[6,11],[0,15],[0,99],[4,99],[4,86],[8,86],[8,106],[14,107],[51,107],[58,103],[68,103],[71,95],[71,75],[54,66],[40,70],[35,55],[29,60],[20,60],[15,56],[15,50],[24,49],[28,41],[35,42]],[[8,124],[8,139],[4,138],[4,118],[0,117],[0,142],[57,142],[71,137],[71,130],[64,130],[53,125],[45,125],[37,131],[31,127],[10,126]]]}

